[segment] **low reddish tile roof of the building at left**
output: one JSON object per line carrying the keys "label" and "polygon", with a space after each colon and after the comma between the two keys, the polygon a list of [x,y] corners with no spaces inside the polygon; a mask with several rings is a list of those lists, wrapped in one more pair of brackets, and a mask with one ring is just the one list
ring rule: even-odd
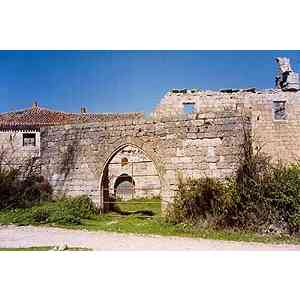
{"label": "low reddish tile roof of the building at left", "polygon": [[66,113],[34,104],[29,109],[0,113],[0,129],[38,129],[42,126],[139,119],[143,113]]}

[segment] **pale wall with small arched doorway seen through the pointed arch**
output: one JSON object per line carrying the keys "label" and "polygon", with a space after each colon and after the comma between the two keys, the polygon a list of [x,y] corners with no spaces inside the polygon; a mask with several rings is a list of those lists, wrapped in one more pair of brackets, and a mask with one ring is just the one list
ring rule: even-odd
{"label": "pale wall with small arched doorway seen through the pointed arch", "polygon": [[147,200],[157,201],[161,196],[161,176],[154,161],[140,147],[131,144],[112,152],[103,167],[100,184],[103,212],[113,210],[115,203],[144,201],[146,205]]}

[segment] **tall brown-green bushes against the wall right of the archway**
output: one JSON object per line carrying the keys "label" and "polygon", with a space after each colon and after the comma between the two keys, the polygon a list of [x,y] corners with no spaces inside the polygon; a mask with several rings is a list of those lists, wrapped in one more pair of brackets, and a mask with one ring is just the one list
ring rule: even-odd
{"label": "tall brown-green bushes against the wall right of the archway", "polygon": [[180,179],[167,221],[204,228],[238,229],[258,233],[297,234],[300,228],[300,164],[271,162],[253,150],[244,130],[235,176]]}

